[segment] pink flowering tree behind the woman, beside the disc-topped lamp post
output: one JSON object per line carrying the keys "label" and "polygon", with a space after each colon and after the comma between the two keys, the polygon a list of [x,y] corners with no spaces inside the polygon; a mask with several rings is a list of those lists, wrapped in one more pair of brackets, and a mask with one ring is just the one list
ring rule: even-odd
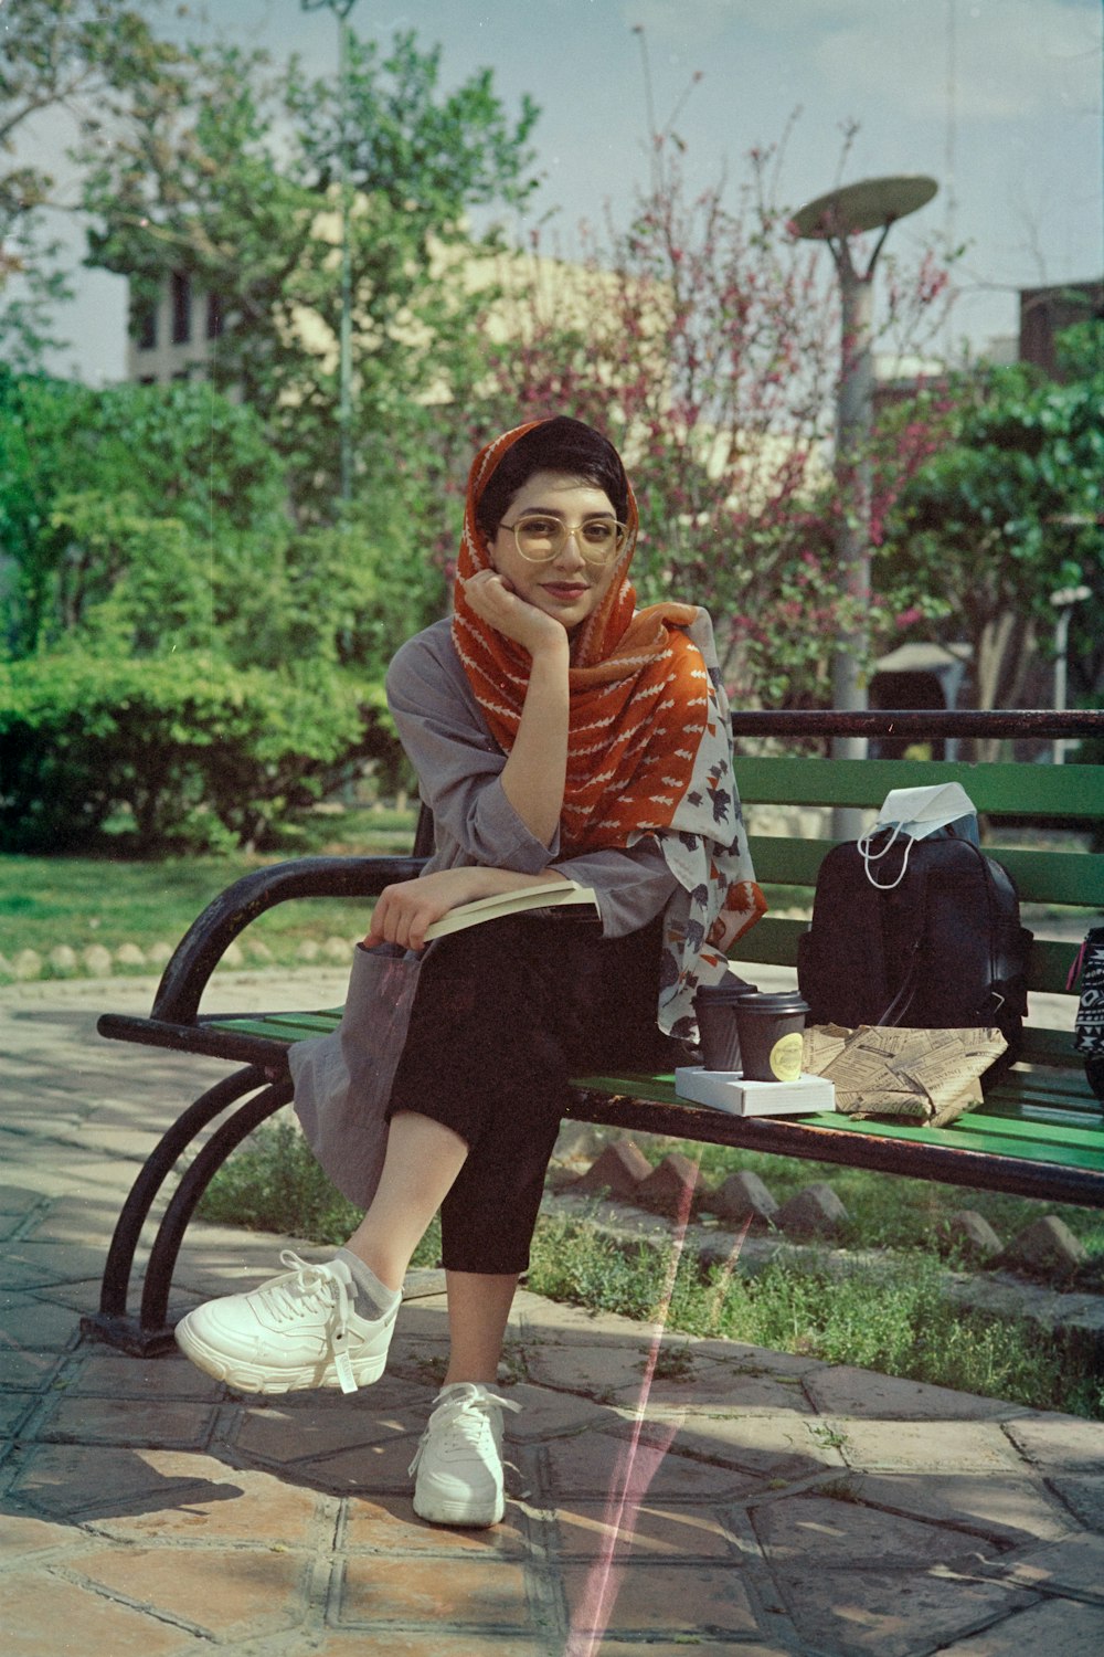
{"label": "pink flowering tree behind the woman, beside the disc-topped lamp post", "polygon": [[[558,263],[533,237],[528,280],[513,278],[508,343],[493,353],[490,403],[506,421],[574,413],[602,428],[639,489],[641,600],[707,605],[745,704],[826,703],[833,638],[849,620],[833,553],[842,507],[831,471],[831,263],[819,244],[794,239],[778,205],[785,143],[750,154],[732,205],[723,181],[690,192],[680,147],[655,134],[632,222],[584,230],[581,267]],[[942,320],[945,273],[930,257],[882,268],[884,330],[897,350],[915,351]],[[477,418],[485,431],[487,408]],[[940,421],[932,394],[879,419],[874,543],[937,446]],[[876,653],[895,618],[874,603],[867,621]]]}

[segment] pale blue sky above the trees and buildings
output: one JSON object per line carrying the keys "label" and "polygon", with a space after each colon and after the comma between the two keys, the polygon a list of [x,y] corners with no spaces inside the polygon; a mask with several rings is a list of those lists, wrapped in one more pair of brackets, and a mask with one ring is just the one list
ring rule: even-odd
{"label": "pale blue sky above the trees and buildings", "polygon": [[[209,0],[172,27],[276,58],[295,50],[336,75],[334,15],[306,5]],[[660,128],[689,93],[675,119],[689,177],[723,174],[733,199],[748,151],[778,143],[794,114],[780,179],[790,207],[839,182],[934,177],[938,194],[892,244],[902,255],[943,237],[967,245],[945,346],[1015,336],[1021,287],[1104,272],[1101,0],[354,0],[351,23],[439,43],[447,86],[490,66],[508,109],[523,93],[536,101],[535,215],[553,214],[564,255],[581,220],[627,220],[649,169],[650,83]],[[61,119],[40,123],[35,141],[56,156]],[[74,280],[78,300],[56,318],[73,345],[51,366],[119,379],[126,285],[103,272]]]}

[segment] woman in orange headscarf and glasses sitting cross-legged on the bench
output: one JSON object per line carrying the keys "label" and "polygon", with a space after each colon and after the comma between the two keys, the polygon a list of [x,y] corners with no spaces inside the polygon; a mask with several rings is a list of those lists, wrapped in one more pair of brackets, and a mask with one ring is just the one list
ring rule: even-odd
{"label": "woman in orange headscarf and glasses sitting cross-legged on the bench", "polygon": [[763,908],[708,618],[636,610],[636,529],[616,449],[579,421],[518,426],[475,457],[454,616],[387,674],[435,852],[382,893],[366,943],[420,949],[455,905],[550,878],[593,886],[601,928],[564,910],[439,940],[361,1226],[331,1263],[291,1258],[177,1329],[243,1390],[376,1380],[440,1208],[450,1360],[412,1471],[415,1511],[442,1524],[503,1513],[502,1410],[516,1405],[492,1389],[568,1079],[667,1067],[695,1036],[697,984]]}

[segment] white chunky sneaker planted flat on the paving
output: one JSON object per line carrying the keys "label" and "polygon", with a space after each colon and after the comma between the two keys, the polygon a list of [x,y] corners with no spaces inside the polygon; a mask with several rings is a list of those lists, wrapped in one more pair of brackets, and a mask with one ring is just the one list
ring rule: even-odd
{"label": "white chunky sneaker planted flat on the paving", "polygon": [[430,1524],[498,1524],[505,1511],[502,1412],[520,1403],[473,1380],[437,1394],[410,1473],[414,1511]]}

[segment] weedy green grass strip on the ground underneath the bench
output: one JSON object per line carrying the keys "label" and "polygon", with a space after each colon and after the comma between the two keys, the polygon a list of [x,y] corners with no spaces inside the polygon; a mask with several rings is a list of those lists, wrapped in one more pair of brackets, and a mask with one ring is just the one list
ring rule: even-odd
{"label": "weedy green grass strip on the ground underneath the bench", "polygon": [[[809,1183],[808,1163],[798,1176]],[[894,1188],[912,1183],[895,1180]],[[962,1193],[955,1200],[962,1206]],[[361,1218],[333,1190],[290,1122],[260,1128],[235,1152],[212,1181],[200,1215],[333,1244],[344,1243]],[[439,1248],[434,1225],[414,1264],[437,1264]],[[723,1336],[1104,1420],[1104,1380],[1089,1349],[1026,1321],[955,1307],[940,1292],[942,1273],[930,1239],[929,1246],[886,1248],[876,1266],[842,1273],[838,1261],[829,1269],[813,1259],[775,1261],[755,1276],[713,1268],[702,1278],[697,1261],[684,1258],[667,1302],[669,1269],[660,1251],[626,1251],[586,1220],[553,1213],[538,1223],[526,1283],[554,1301],[647,1322],[662,1319],[689,1336]]]}

